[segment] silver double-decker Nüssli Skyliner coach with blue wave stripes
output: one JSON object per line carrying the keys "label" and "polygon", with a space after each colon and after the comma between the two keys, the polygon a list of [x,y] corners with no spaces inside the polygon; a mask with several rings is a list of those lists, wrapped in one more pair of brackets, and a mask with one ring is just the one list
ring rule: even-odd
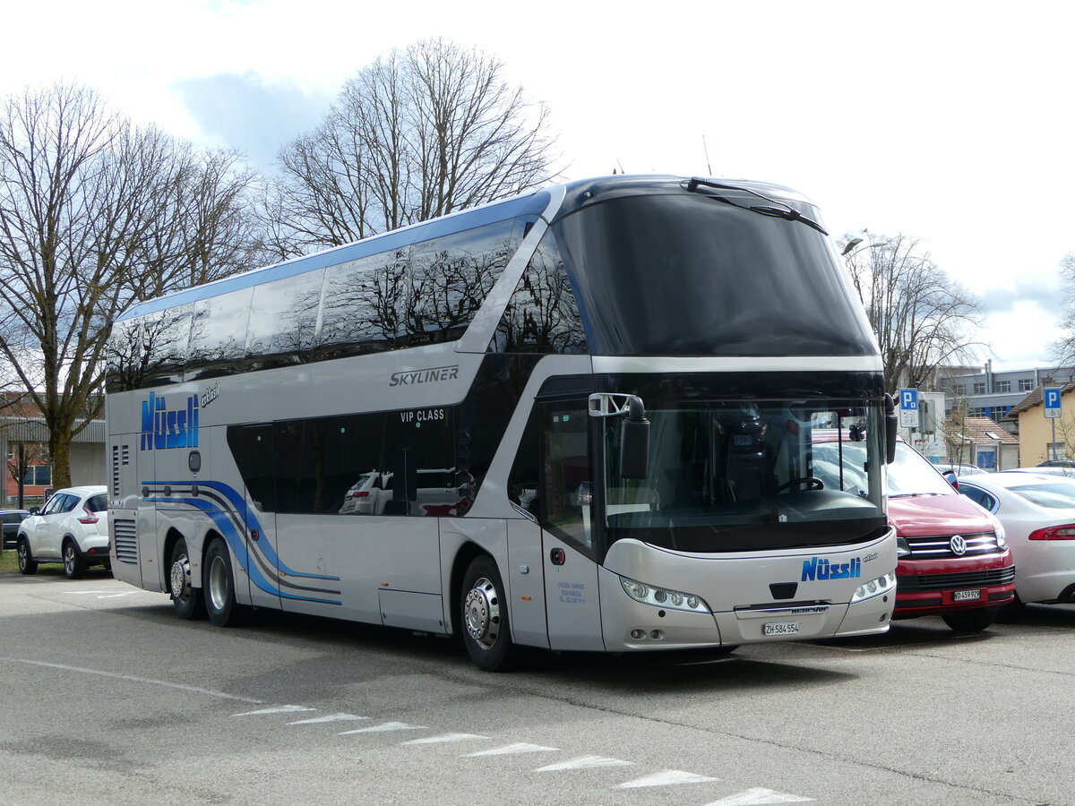
{"label": "silver double-decker N\u00fcssli Skyliner coach with blue wave stripes", "polygon": [[458,634],[485,670],[884,632],[895,419],[817,221],[773,185],[614,176],[139,304],[115,576],[221,627]]}

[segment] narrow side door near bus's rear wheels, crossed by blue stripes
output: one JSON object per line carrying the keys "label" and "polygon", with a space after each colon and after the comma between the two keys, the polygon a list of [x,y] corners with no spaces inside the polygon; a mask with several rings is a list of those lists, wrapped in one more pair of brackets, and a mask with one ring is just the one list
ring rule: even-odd
{"label": "narrow side door near bus's rear wheels, crossed by blue stripes", "polygon": [[[243,528],[228,537],[234,562],[245,573],[235,574],[236,596],[256,607],[280,608],[280,574],[276,556],[275,458],[273,426],[243,426],[240,449],[246,469],[243,500],[236,515]],[[234,568],[233,568],[234,570]],[[245,579],[243,578],[245,577]]]}

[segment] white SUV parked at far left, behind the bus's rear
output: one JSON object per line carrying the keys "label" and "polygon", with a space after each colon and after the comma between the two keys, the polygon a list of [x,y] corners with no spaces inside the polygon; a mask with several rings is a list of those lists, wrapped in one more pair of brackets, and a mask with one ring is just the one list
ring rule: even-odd
{"label": "white SUV parked at far left, behind the bus's rear", "polygon": [[108,509],[103,485],[57,490],[40,515],[18,524],[19,572],[35,574],[40,563],[61,562],[63,573],[75,579],[88,565],[111,567]]}

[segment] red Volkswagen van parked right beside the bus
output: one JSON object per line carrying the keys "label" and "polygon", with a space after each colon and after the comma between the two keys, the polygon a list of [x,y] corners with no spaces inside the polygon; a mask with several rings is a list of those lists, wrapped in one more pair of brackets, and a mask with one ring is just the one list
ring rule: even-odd
{"label": "red Volkswagen van parked right beside the bus", "polygon": [[[862,464],[848,461],[855,450],[860,448],[854,442],[843,444],[841,486],[833,473],[841,466],[836,443],[814,445],[813,473],[826,489],[865,489],[869,481],[855,478]],[[892,618],[936,615],[957,632],[988,628],[1000,608],[1015,600],[1015,560],[1001,522],[960,495],[937,467],[902,441],[886,478],[898,546]]]}

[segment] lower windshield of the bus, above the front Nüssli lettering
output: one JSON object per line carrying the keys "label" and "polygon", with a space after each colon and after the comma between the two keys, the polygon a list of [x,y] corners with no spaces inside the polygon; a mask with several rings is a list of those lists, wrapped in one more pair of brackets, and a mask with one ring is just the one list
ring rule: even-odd
{"label": "lower windshield of the bus, above the front N\u00fcssli lettering", "polygon": [[748,551],[857,543],[886,528],[879,406],[737,400],[646,416],[641,480],[620,478],[619,423],[603,421],[599,505],[610,545],[633,537],[683,551]]}

